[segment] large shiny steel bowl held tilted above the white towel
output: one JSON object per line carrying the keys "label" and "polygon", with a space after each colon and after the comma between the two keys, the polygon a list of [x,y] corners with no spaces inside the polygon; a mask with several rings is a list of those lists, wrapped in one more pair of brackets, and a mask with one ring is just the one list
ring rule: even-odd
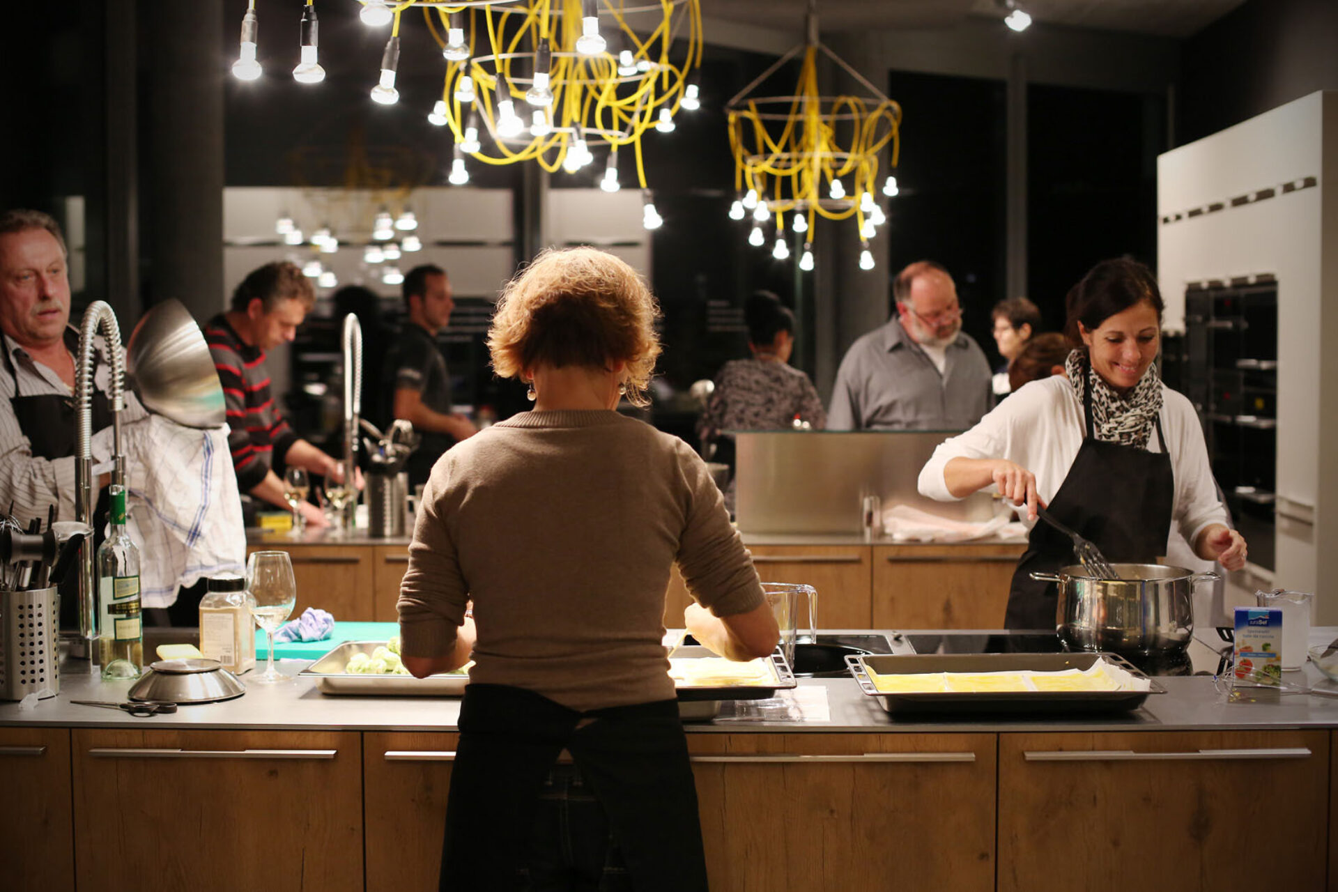
{"label": "large shiny steel bowl held tilted above the white towel", "polygon": [[154,304],[126,345],[126,370],[150,412],[187,428],[226,420],[223,388],[205,336],[181,301]]}

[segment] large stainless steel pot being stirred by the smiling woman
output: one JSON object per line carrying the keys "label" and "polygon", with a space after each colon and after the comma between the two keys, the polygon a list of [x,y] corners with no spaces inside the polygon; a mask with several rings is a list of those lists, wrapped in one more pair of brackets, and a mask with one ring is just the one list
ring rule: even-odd
{"label": "large stainless steel pot being stirred by the smiling woman", "polygon": [[1073,650],[1121,657],[1157,657],[1183,651],[1193,637],[1193,583],[1218,579],[1163,564],[1113,564],[1120,579],[1093,579],[1078,564],[1032,579],[1058,583],[1056,631]]}

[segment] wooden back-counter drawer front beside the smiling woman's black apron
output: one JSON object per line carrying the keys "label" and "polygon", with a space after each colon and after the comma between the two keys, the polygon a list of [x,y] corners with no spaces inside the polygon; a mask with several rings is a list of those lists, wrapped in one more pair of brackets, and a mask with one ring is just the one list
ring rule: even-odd
{"label": "wooden back-counter drawer front beside the smiling woman's black apron", "polygon": [[1002,629],[1022,544],[876,546],[874,629]]}

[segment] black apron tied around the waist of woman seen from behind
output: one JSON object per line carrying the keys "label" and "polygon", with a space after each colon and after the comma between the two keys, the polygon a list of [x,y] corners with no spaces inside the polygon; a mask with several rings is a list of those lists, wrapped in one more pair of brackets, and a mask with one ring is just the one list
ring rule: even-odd
{"label": "black apron tied around the waist of woman seen from behind", "polygon": [[[574,770],[555,766],[571,753]],[[470,685],[451,772],[443,892],[705,892],[676,701],[577,713]]]}

